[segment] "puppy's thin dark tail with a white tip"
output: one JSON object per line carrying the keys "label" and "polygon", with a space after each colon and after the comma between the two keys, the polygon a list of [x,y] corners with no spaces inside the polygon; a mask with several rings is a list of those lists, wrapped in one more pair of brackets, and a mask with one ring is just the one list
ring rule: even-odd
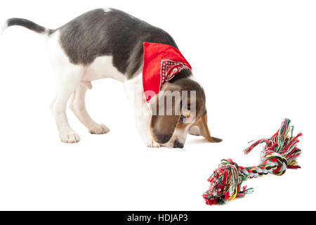
{"label": "puppy's thin dark tail with a white tip", "polygon": [[47,29],[46,27],[42,27],[30,20],[25,20],[21,18],[11,18],[11,19],[6,20],[4,25],[1,27],[1,31],[0,31],[1,34],[4,32],[4,30],[6,30],[7,27],[11,27],[15,25],[25,27],[39,34],[45,34],[48,36],[53,34],[53,32],[55,31],[55,30]]}

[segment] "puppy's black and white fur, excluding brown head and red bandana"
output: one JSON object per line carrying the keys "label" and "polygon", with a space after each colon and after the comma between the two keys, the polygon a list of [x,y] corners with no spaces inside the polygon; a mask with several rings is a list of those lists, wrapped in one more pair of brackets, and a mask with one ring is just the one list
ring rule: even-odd
{"label": "puppy's black and white fur, excluding brown head and red bandana", "polygon": [[[3,30],[12,25],[20,25],[48,37],[48,53],[58,84],[51,110],[62,142],[76,143],[80,140],[67,121],[66,106],[70,99],[70,109],[92,134],[109,131],[104,124],[91,119],[84,98],[87,89],[92,88],[93,80],[112,78],[124,82],[124,89],[135,110],[138,131],[146,146],[183,147],[186,134],[180,131],[174,131],[171,140],[164,145],[153,141],[149,126],[150,110],[143,98],[143,42],[178,48],[164,30],[112,8],[89,11],[56,30],[20,18],[7,20]],[[187,77],[190,76],[189,72]]]}

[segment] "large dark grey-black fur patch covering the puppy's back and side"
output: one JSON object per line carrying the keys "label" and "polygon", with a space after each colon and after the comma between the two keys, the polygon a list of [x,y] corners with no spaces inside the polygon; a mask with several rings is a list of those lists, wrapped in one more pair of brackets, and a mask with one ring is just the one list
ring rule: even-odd
{"label": "large dark grey-black fur patch covering the puppy's back and side", "polygon": [[129,79],[143,65],[143,42],[176,42],[164,30],[111,9],[96,9],[60,27],[60,43],[74,64],[88,65],[98,56],[112,56],[113,64]]}

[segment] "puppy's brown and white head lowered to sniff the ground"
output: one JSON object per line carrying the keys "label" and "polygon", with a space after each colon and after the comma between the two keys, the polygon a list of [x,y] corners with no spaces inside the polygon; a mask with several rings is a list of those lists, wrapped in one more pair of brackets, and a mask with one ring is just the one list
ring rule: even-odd
{"label": "puppy's brown and white head lowered to sniff the ground", "polygon": [[183,148],[190,129],[210,142],[221,141],[210,135],[205,103],[204,90],[190,78],[190,71],[183,71],[166,82],[150,100],[150,130],[154,141],[168,148]]}

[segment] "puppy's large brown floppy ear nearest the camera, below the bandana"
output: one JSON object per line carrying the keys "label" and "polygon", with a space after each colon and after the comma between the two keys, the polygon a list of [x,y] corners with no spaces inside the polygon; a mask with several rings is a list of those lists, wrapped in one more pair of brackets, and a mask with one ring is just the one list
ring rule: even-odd
{"label": "puppy's large brown floppy ear nearest the camera, below the bandana", "polygon": [[[172,99],[171,103],[170,99]],[[150,131],[157,143],[170,141],[180,119],[180,105],[180,86],[169,82],[166,82],[162,91],[150,100],[152,113]]]}

